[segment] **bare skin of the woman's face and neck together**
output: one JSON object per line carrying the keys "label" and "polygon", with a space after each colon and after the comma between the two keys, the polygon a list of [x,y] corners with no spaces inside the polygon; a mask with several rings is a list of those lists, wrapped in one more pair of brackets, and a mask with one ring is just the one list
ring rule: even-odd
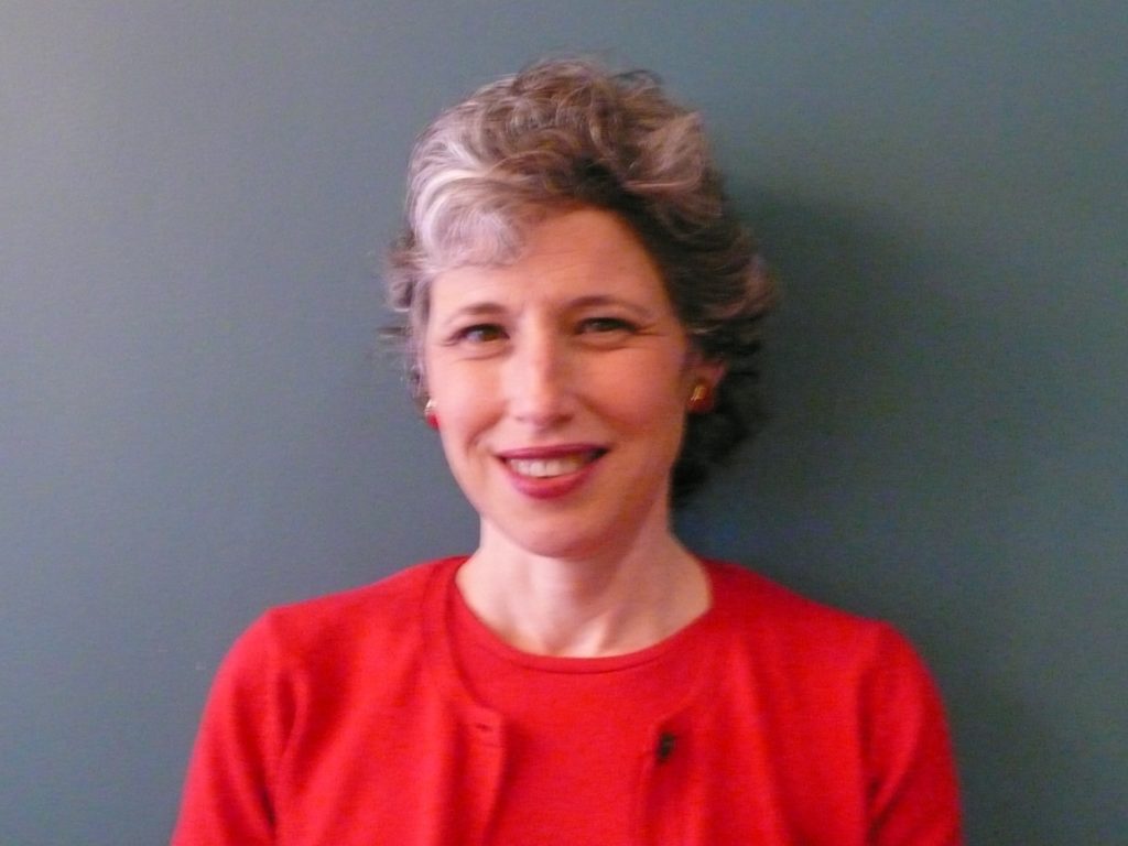
{"label": "bare skin of the woman's face and neck together", "polygon": [[518,649],[644,649],[703,614],[700,565],[670,530],[702,361],[658,267],[610,212],[548,217],[521,257],[438,275],[423,354],[450,468],[481,515],[459,571]]}

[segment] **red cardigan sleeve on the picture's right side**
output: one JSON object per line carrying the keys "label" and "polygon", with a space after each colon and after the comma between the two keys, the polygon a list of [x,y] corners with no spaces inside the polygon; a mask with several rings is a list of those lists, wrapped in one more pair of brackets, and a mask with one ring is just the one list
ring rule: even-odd
{"label": "red cardigan sleeve on the picture's right side", "polygon": [[940,694],[909,643],[882,626],[866,686],[873,846],[960,846],[959,791]]}

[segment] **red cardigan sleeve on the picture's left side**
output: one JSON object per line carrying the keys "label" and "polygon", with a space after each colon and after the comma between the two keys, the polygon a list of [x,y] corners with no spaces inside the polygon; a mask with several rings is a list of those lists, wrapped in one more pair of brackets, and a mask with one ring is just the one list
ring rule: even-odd
{"label": "red cardigan sleeve on the picture's left side", "polygon": [[215,675],[171,846],[274,843],[271,787],[289,722],[285,689],[264,617],[236,641]]}

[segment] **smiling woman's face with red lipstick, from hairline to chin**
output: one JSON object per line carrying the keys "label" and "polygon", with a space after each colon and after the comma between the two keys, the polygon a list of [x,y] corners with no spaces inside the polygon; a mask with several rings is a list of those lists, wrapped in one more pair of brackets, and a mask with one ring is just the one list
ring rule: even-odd
{"label": "smiling woman's face with red lipstick, from hairline to chin", "polygon": [[519,261],[441,273],[430,297],[428,388],[484,537],[589,557],[668,531],[686,402],[721,371],[619,218],[549,217]]}

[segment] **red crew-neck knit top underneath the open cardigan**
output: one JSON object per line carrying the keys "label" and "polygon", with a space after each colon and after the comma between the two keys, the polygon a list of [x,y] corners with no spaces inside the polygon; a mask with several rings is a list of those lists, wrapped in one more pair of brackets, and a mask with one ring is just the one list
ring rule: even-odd
{"label": "red crew-neck knit top underneath the open cardigan", "polygon": [[673,637],[615,658],[520,652],[452,591],[452,642],[473,694],[505,717],[510,764],[491,840],[576,846],[634,843],[632,799],[653,729],[697,680],[708,615]]}

